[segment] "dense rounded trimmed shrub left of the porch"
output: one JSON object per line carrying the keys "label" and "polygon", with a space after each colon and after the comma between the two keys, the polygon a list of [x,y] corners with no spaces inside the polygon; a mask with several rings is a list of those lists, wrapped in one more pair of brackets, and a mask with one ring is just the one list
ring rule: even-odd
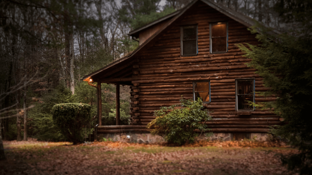
{"label": "dense rounded trimmed shrub left of the porch", "polygon": [[52,108],[55,125],[73,144],[81,143],[82,127],[90,121],[91,106],[85,103],[56,104]]}

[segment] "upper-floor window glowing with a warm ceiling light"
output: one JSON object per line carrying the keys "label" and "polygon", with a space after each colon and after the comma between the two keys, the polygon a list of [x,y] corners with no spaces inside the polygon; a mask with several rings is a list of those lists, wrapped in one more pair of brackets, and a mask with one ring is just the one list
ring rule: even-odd
{"label": "upper-floor window glowing with a warm ceiling light", "polygon": [[227,22],[210,23],[210,53],[227,52]]}

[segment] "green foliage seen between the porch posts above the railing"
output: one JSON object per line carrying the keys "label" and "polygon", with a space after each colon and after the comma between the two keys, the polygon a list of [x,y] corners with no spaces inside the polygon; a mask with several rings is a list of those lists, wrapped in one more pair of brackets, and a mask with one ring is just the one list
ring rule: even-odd
{"label": "green foliage seen between the porch posts above the railing", "polygon": [[[110,126],[116,125],[116,109],[110,109],[108,116],[102,116],[102,125]],[[120,109],[120,125],[130,125],[130,116],[126,115],[126,112]]]}

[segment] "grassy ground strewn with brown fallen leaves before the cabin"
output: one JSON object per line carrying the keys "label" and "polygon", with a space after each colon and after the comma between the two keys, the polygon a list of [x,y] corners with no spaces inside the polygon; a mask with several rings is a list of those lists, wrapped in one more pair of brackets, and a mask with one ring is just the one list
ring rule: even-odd
{"label": "grassy ground strewn with brown fallen leaves before the cabin", "polygon": [[7,161],[0,174],[296,174],[281,165],[280,154],[296,149],[277,142],[201,141],[172,145],[95,142],[5,141]]}

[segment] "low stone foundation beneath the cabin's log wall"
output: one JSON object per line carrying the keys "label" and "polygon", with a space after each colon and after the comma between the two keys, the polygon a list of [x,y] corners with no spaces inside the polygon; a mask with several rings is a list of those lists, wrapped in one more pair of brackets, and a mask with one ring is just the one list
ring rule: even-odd
{"label": "low stone foundation beneath the cabin's log wall", "polygon": [[[254,141],[268,141],[271,139],[271,135],[268,133],[202,133],[197,140],[254,140]],[[159,135],[152,135],[150,133],[107,133],[98,134],[97,140],[111,139],[113,141],[120,142],[133,142],[133,143],[164,143],[165,140]]]}

